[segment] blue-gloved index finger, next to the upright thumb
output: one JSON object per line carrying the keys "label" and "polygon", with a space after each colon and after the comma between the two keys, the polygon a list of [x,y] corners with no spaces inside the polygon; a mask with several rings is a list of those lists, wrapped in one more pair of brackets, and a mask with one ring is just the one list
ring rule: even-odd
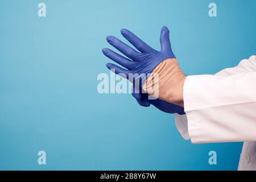
{"label": "blue-gloved index finger, next to the upright thumb", "polygon": [[144,52],[151,52],[154,49],[152,49],[150,46],[148,46],[146,43],[144,43],[141,39],[139,39],[136,35],[133,34],[133,32],[122,29],[121,34],[131,43],[134,47],[136,47],[139,51],[142,53]]}

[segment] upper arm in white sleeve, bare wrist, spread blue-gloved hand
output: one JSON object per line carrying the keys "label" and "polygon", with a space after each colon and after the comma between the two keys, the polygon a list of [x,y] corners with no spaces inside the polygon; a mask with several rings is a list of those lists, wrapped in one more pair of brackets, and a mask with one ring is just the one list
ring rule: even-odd
{"label": "upper arm in white sleeve, bare wrist, spread blue-gloved hand", "polygon": [[[171,50],[167,27],[161,30],[160,51],[128,30],[121,30],[121,33],[139,52],[108,36],[108,42],[129,59],[105,48],[102,52],[126,69],[110,63],[106,66],[129,80],[128,76],[132,74],[135,83],[139,81],[138,88],[142,86],[153,96],[155,89],[160,100],[179,106],[184,104],[187,115],[183,115],[183,121],[188,120],[188,137],[193,143],[256,140],[255,56],[245,67],[238,65],[242,73],[234,71],[231,76],[222,72],[219,75],[186,77]],[[148,76],[148,73],[156,74]],[[138,76],[141,74],[147,76],[141,78]],[[151,79],[157,75],[159,79]]]}

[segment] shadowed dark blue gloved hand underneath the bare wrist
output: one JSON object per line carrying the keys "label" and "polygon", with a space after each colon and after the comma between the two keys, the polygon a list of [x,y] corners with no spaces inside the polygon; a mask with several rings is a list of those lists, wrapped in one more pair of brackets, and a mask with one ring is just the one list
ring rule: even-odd
{"label": "shadowed dark blue gloved hand underneath the bare wrist", "polygon": [[147,93],[135,92],[136,89],[137,89],[137,87],[135,85],[133,85],[132,95],[137,100],[139,105],[141,105],[143,107],[148,107],[152,104],[156,108],[158,108],[159,110],[162,110],[165,113],[170,113],[170,114],[177,113],[180,115],[185,114],[183,107],[175,105],[175,104],[171,104],[170,102],[160,100],[159,98],[157,98],[156,100],[148,100]]}

